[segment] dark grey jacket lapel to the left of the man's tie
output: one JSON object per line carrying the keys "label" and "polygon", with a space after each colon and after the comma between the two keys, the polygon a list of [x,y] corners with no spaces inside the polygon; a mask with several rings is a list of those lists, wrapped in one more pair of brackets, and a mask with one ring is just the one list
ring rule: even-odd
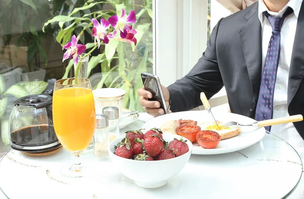
{"label": "dark grey jacket lapel to the left of the man's tie", "polygon": [[255,102],[258,98],[259,86],[262,73],[262,39],[261,23],[258,19],[258,3],[244,17],[247,22],[240,30],[240,37],[246,66],[251,81]]}

